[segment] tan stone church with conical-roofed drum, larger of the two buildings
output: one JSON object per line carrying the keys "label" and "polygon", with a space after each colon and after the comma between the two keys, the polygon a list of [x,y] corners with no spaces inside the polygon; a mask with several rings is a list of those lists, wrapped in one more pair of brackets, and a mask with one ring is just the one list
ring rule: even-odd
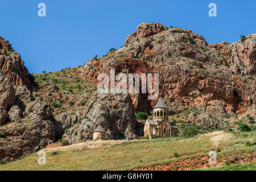
{"label": "tan stone church with conical-roofed drum, larger of the two buildings", "polygon": [[162,98],[156,103],[153,113],[153,120],[147,119],[144,125],[144,137],[177,137],[177,126],[168,121],[168,107]]}

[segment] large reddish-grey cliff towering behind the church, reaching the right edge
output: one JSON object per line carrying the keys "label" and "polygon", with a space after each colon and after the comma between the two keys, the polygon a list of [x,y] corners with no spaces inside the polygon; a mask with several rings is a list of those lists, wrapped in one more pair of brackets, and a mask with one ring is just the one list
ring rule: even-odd
{"label": "large reddish-grey cliff towering behind the church, reaching the right edge", "polygon": [[[125,46],[89,60],[77,75],[98,84],[98,74],[109,75],[112,68],[115,75],[159,73],[159,96],[169,104],[200,106],[213,117],[243,114],[256,103],[255,46],[256,34],[243,42],[209,45],[191,30],[142,23]],[[135,110],[154,107],[147,97],[131,95]]]}

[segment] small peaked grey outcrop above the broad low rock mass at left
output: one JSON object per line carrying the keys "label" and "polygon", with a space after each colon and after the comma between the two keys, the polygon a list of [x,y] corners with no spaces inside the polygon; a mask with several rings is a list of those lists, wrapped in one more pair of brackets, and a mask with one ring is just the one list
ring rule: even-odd
{"label": "small peaked grey outcrop above the broad low rock mass at left", "polygon": [[47,120],[52,117],[51,106],[44,102],[41,97],[36,97],[36,100],[31,104],[27,105],[25,113],[31,119],[43,119]]}

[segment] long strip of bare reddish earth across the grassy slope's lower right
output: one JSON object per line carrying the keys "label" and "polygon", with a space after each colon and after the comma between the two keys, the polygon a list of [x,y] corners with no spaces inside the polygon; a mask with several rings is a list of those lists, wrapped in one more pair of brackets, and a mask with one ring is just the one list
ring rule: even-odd
{"label": "long strip of bare reddish earth across the grassy slope's lower right", "polygon": [[189,158],[185,160],[177,160],[168,164],[159,164],[155,166],[142,167],[133,169],[133,171],[181,171],[181,170],[192,170],[196,168],[216,167],[216,166],[227,166],[234,164],[244,164],[256,162],[256,156],[251,154],[242,154],[239,158],[236,155],[224,158],[222,156],[217,157],[217,164],[209,164],[209,156],[198,156],[196,158]]}

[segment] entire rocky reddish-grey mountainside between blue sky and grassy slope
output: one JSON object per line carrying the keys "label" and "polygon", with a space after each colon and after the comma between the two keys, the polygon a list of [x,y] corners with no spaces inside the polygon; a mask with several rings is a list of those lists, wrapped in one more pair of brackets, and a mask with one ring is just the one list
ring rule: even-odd
{"label": "entire rocky reddish-grey mountainside between blue sky and grassy slope", "polygon": [[30,75],[11,44],[0,38],[0,158],[9,162],[59,139],[84,142],[98,124],[105,127],[106,139],[142,135],[134,112],[150,114],[157,100],[147,100],[147,94],[98,94],[98,75],[110,75],[112,68],[115,75],[159,73],[159,95],[178,126],[255,125],[255,62],[256,34],[232,44],[208,44],[191,30],[141,23],[125,46],[103,57]]}

